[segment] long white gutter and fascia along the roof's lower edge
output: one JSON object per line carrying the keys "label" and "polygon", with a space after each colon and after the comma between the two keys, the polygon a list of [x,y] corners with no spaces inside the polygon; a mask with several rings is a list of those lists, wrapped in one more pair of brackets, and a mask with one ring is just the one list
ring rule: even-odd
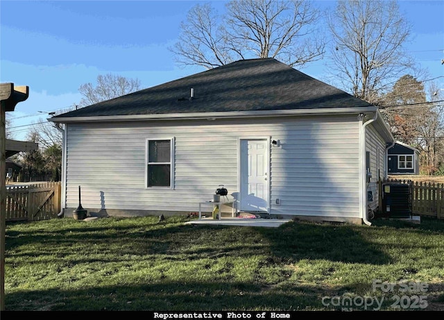
{"label": "long white gutter and fascia along the roof's lower edge", "polygon": [[304,109],[304,110],[266,110],[266,111],[232,111],[232,112],[193,112],[169,113],[160,115],[117,115],[94,117],[60,117],[50,118],[49,121],[90,122],[90,121],[134,121],[134,120],[191,120],[191,119],[230,119],[241,117],[282,117],[286,115],[345,115],[363,112],[375,112],[376,107],[361,108],[332,108],[332,109]]}

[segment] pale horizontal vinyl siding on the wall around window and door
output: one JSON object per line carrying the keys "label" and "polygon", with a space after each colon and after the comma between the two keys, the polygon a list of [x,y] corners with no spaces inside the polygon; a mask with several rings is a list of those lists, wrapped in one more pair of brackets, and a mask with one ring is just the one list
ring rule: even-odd
{"label": "pale horizontal vinyl siding on the wall around window and door", "polygon": [[[269,136],[271,214],[359,217],[355,116],[133,121],[67,126],[66,207],[196,212],[236,196],[238,139]],[[174,137],[173,188],[146,188],[146,140]],[[275,204],[280,199],[280,205]]]}

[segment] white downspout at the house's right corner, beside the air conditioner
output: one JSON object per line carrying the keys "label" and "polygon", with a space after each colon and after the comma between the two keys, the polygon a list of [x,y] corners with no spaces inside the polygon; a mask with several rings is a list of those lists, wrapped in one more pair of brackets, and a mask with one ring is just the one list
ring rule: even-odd
{"label": "white downspout at the house's right corner, beside the air conditioner", "polygon": [[360,159],[361,159],[361,174],[359,175],[361,177],[361,199],[362,199],[362,203],[361,203],[361,217],[362,220],[364,221],[364,224],[366,224],[367,226],[371,226],[371,222],[368,221],[368,199],[367,199],[367,187],[368,187],[368,183],[367,183],[367,171],[366,171],[366,151],[367,151],[367,139],[366,139],[366,126],[368,126],[369,124],[371,124],[373,121],[375,121],[377,119],[377,112],[375,112],[375,115],[373,117],[373,119],[370,119],[368,121],[366,121],[366,123],[364,123],[364,117],[365,115],[363,113],[361,113],[358,116],[359,122],[362,124],[361,126],[361,135],[360,135],[360,139],[361,139],[361,143],[360,145],[362,146],[362,150],[360,152]]}

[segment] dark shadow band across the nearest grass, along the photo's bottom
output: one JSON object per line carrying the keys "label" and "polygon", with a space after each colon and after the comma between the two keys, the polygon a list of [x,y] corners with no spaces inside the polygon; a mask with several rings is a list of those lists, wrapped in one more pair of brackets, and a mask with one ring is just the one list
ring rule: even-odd
{"label": "dark shadow band across the nearest grass, along the photo's bottom", "polygon": [[[355,287],[359,284],[352,284]],[[192,287],[193,289],[189,289]],[[366,304],[351,305],[341,292],[322,287],[284,285],[272,289],[225,282],[178,283],[100,287],[78,290],[35,290],[6,296],[6,311],[373,311],[393,309],[393,293],[367,296]],[[350,297],[353,298],[353,295]],[[377,303],[382,301],[382,304]],[[431,299],[426,300],[429,307]],[[101,308],[98,310],[97,305]],[[412,305],[413,306],[413,305]],[[351,308],[350,308],[351,307]],[[398,305],[399,307],[399,305]],[[398,308],[399,310],[399,308]],[[402,311],[409,310],[409,307]],[[418,306],[410,310],[418,311]],[[426,309],[427,310],[427,309]]]}

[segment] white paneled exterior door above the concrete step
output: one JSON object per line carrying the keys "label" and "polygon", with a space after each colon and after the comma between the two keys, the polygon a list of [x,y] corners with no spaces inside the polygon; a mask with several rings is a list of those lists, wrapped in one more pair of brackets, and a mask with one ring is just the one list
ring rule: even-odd
{"label": "white paneled exterior door above the concrete step", "polygon": [[241,140],[240,210],[268,212],[268,140]]}

